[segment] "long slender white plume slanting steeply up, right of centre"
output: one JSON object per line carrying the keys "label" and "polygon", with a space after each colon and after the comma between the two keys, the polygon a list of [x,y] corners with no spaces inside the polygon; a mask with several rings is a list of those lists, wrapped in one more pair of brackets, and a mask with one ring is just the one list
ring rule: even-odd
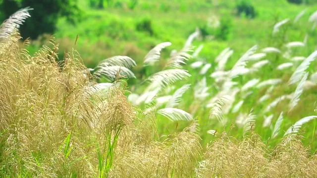
{"label": "long slender white plume slanting steeply up, right of centre", "polygon": [[245,66],[247,65],[248,60],[250,59],[250,56],[255,53],[258,46],[255,45],[251,47],[246,53],[244,53],[240,59],[234,64],[232,69],[230,70],[229,78],[235,78],[240,74],[244,73]]}

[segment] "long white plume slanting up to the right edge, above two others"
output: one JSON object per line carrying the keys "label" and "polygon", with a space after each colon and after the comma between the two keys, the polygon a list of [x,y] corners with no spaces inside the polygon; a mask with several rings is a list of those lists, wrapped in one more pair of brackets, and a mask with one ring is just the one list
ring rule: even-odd
{"label": "long white plume slanting up to the right edge, above two others", "polygon": [[292,74],[291,78],[288,81],[288,84],[295,84],[296,82],[300,81],[304,75],[306,69],[309,67],[312,61],[314,61],[317,57],[317,51],[313,52],[310,56],[308,56],[295,70]]}

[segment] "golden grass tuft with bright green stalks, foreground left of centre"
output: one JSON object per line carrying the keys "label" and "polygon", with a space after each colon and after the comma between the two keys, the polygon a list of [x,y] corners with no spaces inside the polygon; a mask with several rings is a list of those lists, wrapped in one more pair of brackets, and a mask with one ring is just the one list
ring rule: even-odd
{"label": "golden grass tuft with bright green stalks, foreground left of centre", "polygon": [[127,130],[133,127],[135,120],[133,109],[120,89],[109,90],[106,101],[97,121],[100,123],[97,131],[97,153],[101,178],[110,172],[117,149],[129,149],[128,141],[133,138]]}

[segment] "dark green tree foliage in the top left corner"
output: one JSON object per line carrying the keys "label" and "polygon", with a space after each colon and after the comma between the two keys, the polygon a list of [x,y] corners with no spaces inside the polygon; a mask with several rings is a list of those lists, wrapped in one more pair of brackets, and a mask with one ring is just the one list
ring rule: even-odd
{"label": "dark green tree foliage in the top left corner", "polygon": [[76,0],[2,0],[2,18],[8,18],[12,12],[23,7],[34,9],[30,11],[32,18],[27,19],[20,29],[24,38],[37,39],[44,33],[53,34],[59,17],[65,17],[74,24],[79,16]]}

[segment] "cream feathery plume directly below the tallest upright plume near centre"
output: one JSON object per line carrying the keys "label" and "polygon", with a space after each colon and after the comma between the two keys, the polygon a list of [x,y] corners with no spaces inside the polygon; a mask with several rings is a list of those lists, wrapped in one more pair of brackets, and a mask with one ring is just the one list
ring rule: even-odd
{"label": "cream feathery plume directly below the tallest upright plume near centre", "polygon": [[192,55],[188,53],[191,51],[191,46],[184,46],[182,50],[168,59],[164,68],[181,69],[182,65],[186,64],[185,61],[192,57]]}

